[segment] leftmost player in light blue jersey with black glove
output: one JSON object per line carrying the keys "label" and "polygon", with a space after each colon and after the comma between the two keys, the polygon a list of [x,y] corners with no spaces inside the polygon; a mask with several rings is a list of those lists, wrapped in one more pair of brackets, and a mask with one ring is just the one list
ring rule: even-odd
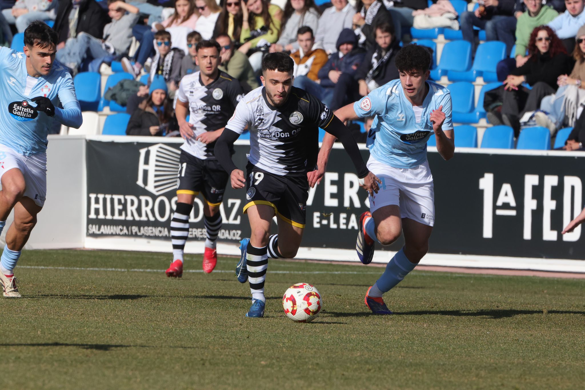
{"label": "leftmost player in light blue jersey with black glove", "polygon": [[[14,209],[0,258],[7,298],[19,298],[12,271],[47,192],[47,132],[53,120],[81,126],[71,75],[57,62],[57,33],[40,20],[25,30],[23,51],[0,47],[0,232]],[[56,107],[61,102],[63,108]]]}

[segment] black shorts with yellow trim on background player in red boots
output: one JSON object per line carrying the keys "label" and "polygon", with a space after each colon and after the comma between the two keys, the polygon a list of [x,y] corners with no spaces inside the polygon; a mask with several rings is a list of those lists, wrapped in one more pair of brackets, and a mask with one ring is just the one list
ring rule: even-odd
{"label": "black shorts with yellow trim on background player in red boots", "polygon": [[181,150],[179,158],[177,195],[203,195],[210,206],[219,206],[223,200],[229,175],[217,160],[202,160]]}

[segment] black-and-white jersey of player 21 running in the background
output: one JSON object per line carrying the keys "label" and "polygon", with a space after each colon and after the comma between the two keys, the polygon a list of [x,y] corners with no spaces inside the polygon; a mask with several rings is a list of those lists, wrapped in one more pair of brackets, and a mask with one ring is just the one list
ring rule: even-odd
{"label": "black-and-white jersey of player 21 running in the background", "polygon": [[211,84],[204,85],[199,72],[185,75],[181,79],[177,98],[189,103],[189,123],[193,126],[193,139],[185,139],[181,149],[205,160],[215,158],[215,142],[205,144],[195,140],[204,132],[213,132],[225,127],[228,119],[243,97],[242,86],[235,78],[219,71]]}

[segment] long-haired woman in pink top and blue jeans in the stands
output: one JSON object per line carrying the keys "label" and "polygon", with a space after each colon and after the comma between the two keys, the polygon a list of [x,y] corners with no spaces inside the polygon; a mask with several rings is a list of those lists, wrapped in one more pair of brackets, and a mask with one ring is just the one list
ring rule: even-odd
{"label": "long-haired woman in pink top and blue jeans in the stands", "polygon": [[167,27],[188,27],[191,30],[195,30],[195,23],[197,23],[198,17],[199,12],[195,8],[194,0],[176,0],[175,12],[162,23],[153,23],[152,28],[143,25],[134,26],[132,34],[140,42],[140,46],[136,51],[136,63],[134,65],[130,64],[128,58],[122,59],[124,71],[136,76],[140,74],[140,70],[142,70],[146,60],[154,55],[154,32],[162,31]]}

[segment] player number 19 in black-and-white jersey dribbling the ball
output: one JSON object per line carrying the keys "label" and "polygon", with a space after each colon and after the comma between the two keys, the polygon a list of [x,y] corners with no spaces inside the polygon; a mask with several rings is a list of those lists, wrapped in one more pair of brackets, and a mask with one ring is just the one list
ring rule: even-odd
{"label": "player number 19 in black-and-white jersey dribbling the ball", "polygon": [[[315,96],[292,87],[294,63],[284,53],[270,53],[262,60],[263,87],[249,92],[215,145],[215,157],[229,172],[232,188],[244,188],[252,229],[240,241],[242,257],[236,268],[240,282],[250,282],[252,307],[247,317],[263,317],[264,280],[271,257],[296,256],[305,227],[308,177],[314,172],[319,149],[319,127],[343,143],[352,158],[360,184],[378,191],[378,178],[364,164],[356,141],[343,123]],[[244,130],[250,131],[247,174],[233,164],[230,146]],[[278,234],[269,237],[274,215]],[[267,246],[270,244],[270,248]]]}

